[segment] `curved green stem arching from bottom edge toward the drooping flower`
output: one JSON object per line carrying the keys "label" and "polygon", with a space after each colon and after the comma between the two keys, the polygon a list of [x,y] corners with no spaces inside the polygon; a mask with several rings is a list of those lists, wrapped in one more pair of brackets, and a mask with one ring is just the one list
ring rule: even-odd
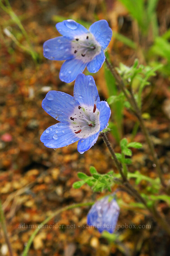
{"label": "curved green stem arching from bottom edge toward the drooping flower", "polygon": [[70,210],[76,207],[82,207],[82,206],[91,206],[93,205],[94,202],[88,202],[88,203],[78,203],[78,204],[73,204],[73,205],[69,205],[69,206],[65,206],[59,210],[56,210],[55,212],[53,212],[48,218],[46,218],[41,224],[39,224],[38,228],[36,228],[33,232],[33,234],[30,236],[27,245],[25,246],[25,249],[23,251],[22,256],[26,256],[29,248],[35,238],[35,236],[37,235],[37,233],[39,232],[39,230],[42,228],[43,225],[45,225],[48,221],[50,221],[52,218],[54,218],[56,215],[58,215],[59,213],[66,211],[66,210]]}

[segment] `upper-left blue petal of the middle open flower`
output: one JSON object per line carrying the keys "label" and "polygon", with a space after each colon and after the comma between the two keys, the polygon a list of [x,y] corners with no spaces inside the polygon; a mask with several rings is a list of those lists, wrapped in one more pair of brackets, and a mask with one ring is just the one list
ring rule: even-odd
{"label": "upper-left blue petal of the middle open flower", "polygon": [[42,108],[60,122],[67,123],[74,109],[79,105],[74,97],[58,91],[49,91],[42,101]]}

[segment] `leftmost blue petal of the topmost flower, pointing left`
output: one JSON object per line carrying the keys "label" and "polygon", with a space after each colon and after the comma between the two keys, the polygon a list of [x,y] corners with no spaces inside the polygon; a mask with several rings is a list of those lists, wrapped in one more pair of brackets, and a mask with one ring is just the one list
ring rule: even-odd
{"label": "leftmost blue petal of the topmost flower, pointing left", "polygon": [[43,44],[44,57],[51,60],[65,60],[73,58],[71,41],[64,36],[47,40]]}

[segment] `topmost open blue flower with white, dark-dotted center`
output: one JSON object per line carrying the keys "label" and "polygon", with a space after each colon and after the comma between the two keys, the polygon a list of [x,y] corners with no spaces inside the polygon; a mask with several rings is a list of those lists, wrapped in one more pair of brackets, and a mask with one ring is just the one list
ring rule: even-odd
{"label": "topmost open blue flower with white, dark-dotted center", "polygon": [[74,20],[64,20],[56,28],[63,36],[47,40],[43,48],[45,58],[66,60],[59,73],[61,81],[74,81],[86,66],[89,72],[96,73],[105,61],[104,50],[112,37],[107,21],[96,21],[87,30]]}

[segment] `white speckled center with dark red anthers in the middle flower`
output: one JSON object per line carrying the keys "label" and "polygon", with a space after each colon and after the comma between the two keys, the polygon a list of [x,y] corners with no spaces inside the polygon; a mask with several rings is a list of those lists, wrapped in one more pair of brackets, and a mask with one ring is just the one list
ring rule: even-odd
{"label": "white speckled center with dark red anthers in the middle flower", "polygon": [[80,139],[87,138],[100,130],[99,110],[94,106],[77,106],[70,117],[70,128]]}

